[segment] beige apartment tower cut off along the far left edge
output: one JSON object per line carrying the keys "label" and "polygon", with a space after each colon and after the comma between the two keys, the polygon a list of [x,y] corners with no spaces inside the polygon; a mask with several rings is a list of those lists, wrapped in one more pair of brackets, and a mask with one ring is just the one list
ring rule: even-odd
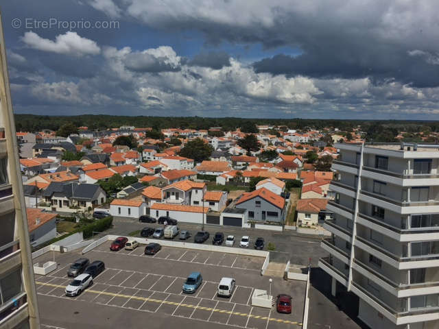
{"label": "beige apartment tower cut off along the far left edge", "polygon": [[39,328],[32,255],[0,17],[0,329]]}

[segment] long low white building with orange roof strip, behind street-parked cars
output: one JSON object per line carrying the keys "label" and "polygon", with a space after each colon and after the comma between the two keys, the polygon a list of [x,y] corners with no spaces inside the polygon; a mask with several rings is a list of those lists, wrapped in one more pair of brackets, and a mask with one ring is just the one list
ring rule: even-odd
{"label": "long low white building with orange roof strip, behind street-parked cars", "polygon": [[158,217],[171,217],[184,223],[206,223],[208,207],[203,206],[187,206],[185,204],[164,204],[156,202],[150,208],[150,216],[158,219]]}

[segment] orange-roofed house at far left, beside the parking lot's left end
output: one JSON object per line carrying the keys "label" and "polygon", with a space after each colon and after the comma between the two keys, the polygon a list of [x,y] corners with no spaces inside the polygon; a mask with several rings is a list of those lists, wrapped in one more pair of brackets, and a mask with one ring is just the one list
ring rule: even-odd
{"label": "orange-roofed house at far left, beside the parking lot's left end", "polygon": [[32,247],[56,238],[55,212],[43,212],[39,208],[26,208],[27,230]]}

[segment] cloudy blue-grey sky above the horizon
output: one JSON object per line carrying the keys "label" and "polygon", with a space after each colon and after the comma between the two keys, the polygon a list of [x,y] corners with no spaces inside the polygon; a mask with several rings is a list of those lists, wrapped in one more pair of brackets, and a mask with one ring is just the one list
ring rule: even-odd
{"label": "cloudy blue-grey sky above the horizon", "polygon": [[1,1],[14,112],[437,120],[436,2]]}

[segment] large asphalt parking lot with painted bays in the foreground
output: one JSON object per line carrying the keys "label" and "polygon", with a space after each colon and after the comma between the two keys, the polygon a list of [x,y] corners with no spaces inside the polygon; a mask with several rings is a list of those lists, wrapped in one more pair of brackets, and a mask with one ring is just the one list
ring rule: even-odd
{"label": "large asphalt parking lot with painted bays in the foreground", "polygon": [[[293,297],[292,314],[276,313],[275,308],[251,306],[254,289],[269,289],[268,277],[260,274],[263,258],[225,254],[178,247],[163,247],[154,256],[145,256],[143,246],[132,251],[125,249],[110,252],[110,241],[99,245],[84,256],[102,260],[104,272],[93,280],[89,287],[77,297],[65,297],[64,288],[71,281],[67,278],[69,265],[80,257],[78,252],[56,254],[58,269],[49,276],[36,276],[37,293],[41,298],[58,300],[54,307],[73,313],[71,307],[81,308],[86,313],[95,306],[99,311],[108,308],[130,311],[130,328],[143,327],[154,321],[180,319],[179,326],[193,327],[193,322],[209,322],[209,326],[234,326],[239,328],[300,328],[303,313],[305,283],[274,278],[272,295],[287,293]],[[42,255],[34,262],[51,259],[52,254]],[[182,284],[192,271],[200,271],[203,283],[193,295],[182,293]],[[230,298],[217,297],[217,285],[222,277],[235,278],[237,287]],[[108,313],[115,317],[117,312]],[[120,313],[123,314],[123,313]],[[165,316],[165,317],[163,317]],[[53,326],[78,328],[78,321],[69,321],[69,316],[60,319],[60,313],[43,312],[42,317]],[[74,315],[71,315],[75,319]],[[137,321],[134,321],[136,320]],[[82,327],[93,321],[82,319]],[[169,322],[171,323],[171,322]],[[138,324],[138,326],[136,326]],[[160,326],[158,326],[159,328]],[[96,327],[98,328],[98,327]]]}

